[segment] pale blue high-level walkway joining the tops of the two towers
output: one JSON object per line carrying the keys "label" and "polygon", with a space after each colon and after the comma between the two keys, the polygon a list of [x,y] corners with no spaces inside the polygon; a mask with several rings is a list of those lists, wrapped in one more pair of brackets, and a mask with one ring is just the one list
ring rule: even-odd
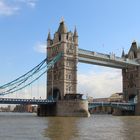
{"label": "pale blue high-level walkway joining the tops of the two towers", "polygon": [[102,54],[84,49],[78,49],[78,61],[82,63],[107,66],[123,69],[129,66],[140,66],[138,60],[124,59],[115,56],[115,54]]}

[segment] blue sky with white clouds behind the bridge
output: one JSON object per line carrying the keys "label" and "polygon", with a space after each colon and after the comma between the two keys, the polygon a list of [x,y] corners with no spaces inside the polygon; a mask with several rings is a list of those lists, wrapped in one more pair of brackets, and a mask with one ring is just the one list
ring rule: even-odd
{"label": "blue sky with white clouds behind the bridge", "polygon": [[[139,0],[0,0],[0,85],[46,57],[48,32],[53,36],[62,17],[68,30],[76,26],[79,48],[127,53],[140,40],[139,5]],[[101,98],[115,92],[122,92],[121,70],[78,63],[78,93]]]}

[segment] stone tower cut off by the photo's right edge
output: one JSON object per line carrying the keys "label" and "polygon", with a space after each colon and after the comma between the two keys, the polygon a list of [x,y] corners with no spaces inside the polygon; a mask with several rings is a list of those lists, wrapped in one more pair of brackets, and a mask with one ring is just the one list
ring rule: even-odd
{"label": "stone tower cut off by the photo's right edge", "polygon": [[[136,41],[132,42],[128,54],[122,53],[122,58],[127,61],[135,60],[140,62],[140,46]],[[136,114],[140,115],[140,66],[132,66],[122,69],[123,93],[125,101],[137,102]]]}

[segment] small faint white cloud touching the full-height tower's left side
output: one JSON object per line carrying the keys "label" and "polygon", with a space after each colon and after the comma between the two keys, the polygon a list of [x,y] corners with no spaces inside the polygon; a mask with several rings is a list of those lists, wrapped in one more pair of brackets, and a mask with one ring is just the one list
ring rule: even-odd
{"label": "small faint white cloud touching the full-height tower's left side", "polygon": [[35,47],[34,47],[34,50],[36,52],[39,52],[39,53],[46,53],[46,44],[44,43],[40,43],[38,42]]}

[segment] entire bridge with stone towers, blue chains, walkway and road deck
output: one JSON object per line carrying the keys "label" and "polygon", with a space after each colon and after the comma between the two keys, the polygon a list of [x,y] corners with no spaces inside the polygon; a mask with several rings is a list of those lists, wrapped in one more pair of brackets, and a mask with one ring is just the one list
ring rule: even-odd
{"label": "entire bridge with stone towers, blue chains, walkway and road deck", "polygon": [[[122,69],[124,103],[90,103],[77,94],[77,63]],[[36,76],[36,73],[41,73]],[[134,41],[127,54],[103,54],[78,48],[78,32],[68,31],[64,21],[51,38],[47,38],[47,58],[31,71],[0,86],[0,95],[19,91],[47,73],[46,99],[0,99],[1,104],[37,104],[39,116],[89,116],[88,108],[108,105],[117,110],[140,115],[140,47]],[[32,77],[34,76],[34,79]],[[133,103],[137,99],[137,103]],[[131,101],[131,102],[130,102]]]}

